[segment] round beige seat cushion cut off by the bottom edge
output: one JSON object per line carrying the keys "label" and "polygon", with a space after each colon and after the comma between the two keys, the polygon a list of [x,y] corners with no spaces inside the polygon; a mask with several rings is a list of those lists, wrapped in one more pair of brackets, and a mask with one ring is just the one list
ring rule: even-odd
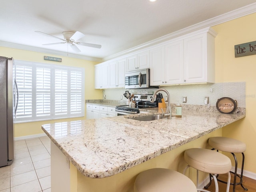
{"label": "round beige seat cushion cut off by the bottom edge", "polygon": [[134,192],[197,192],[187,176],[170,169],[153,168],[138,174]]}

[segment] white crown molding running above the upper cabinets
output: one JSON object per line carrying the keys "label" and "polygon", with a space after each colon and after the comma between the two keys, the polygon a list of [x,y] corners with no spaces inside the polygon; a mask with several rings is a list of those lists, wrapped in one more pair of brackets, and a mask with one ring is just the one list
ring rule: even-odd
{"label": "white crown molding running above the upper cabinets", "polygon": [[124,50],[122,52],[116,53],[114,55],[105,57],[102,60],[103,61],[108,61],[108,60],[111,60],[111,59],[114,59],[114,58],[117,58],[117,57],[120,57],[120,56],[124,56],[126,54],[129,54],[129,53],[132,53],[132,52],[135,52],[135,51],[139,51],[143,48],[147,48],[149,46],[154,46],[155,44],[159,44],[161,42],[171,40],[172,38],[177,38],[177,37],[182,36],[184,34],[192,33],[192,32],[195,32],[197,30],[202,30],[203,28],[210,28],[212,26],[215,26],[215,25],[227,22],[227,21],[231,21],[231,20],[240,18],[242,16],[253,14],[255,12],[256,12],[256,3],[253,3],[253,4],[250,4],[248,6],[244,6],[242,8],[239,8],[239,9],[233,10],[231,12],[222,14],[220,16],[216,16],[214,18],[205,20],[205,21],[200,22],[198,24],[194,24],[194,25],[189,26],[187,28],[184,28],[182,30],[178,30],[176,32],[167,34],[167,35],[162,36],[160,38],[156,38],[152,41],[146,42],[144,44],[140,44],[140,45],[135,46],[133,48],[130,48],[130,49]]}

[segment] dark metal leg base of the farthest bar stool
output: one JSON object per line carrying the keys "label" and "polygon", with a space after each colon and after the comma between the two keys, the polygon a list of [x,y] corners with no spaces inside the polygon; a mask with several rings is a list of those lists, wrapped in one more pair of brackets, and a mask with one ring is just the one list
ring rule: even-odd
{"label": "dark metal leg base of the farthest bar stool", "polygon": [[[214,148],[212,150],[215,150]],[[217,150],[218,151],[218,150]],[[241,175],[237,174],[237,159],[236,159],[236,155],[234,153],[231,153],[233,156],[234,156],[234,159],[235,159],[235,171],[232,172],[230,171],[230,173],[234,174],[234,183],[231,183],[230,182],[230,185],[233,185],[233,192],[235,192],[236,190],[236,185],[241,185],[241,187],[244,189],[244,190],[248,190],[247,188],[245,188],[243,186],[243,171],[244,171],[244,153],[242,152],[242,156],[243,156],[243,159],[242,159],[242,168],[241,168]],[[236,177],[238,177],[240,179],[240,182],[236,182]],[[225,183],[227,184],[227,182],[225,181],[222,181],[220,179],[218,179],[218,175],[216,176],[217,180],[219,182],[222,182],[222,183]],[[210,182],[204,186],[205,189],[208,189],[208,187],[212,184],[212,175],[210,174]]]}

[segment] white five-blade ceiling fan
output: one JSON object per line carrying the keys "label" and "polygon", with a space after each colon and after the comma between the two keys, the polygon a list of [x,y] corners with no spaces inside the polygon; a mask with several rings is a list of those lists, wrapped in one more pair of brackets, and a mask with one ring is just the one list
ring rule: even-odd
{"label": "white five-blade ceiling fan", "polygon": [[81,52],[80,49],[76,46],[77,45],[82,45],[82,46],[88,46],[88,47],[93,47],[93,48],[101,48],[101,45],[98,44],[91,44],[91,43],[84,43],[84,42],[77,42],[77,40],[79,40],[80,38],[84,37],[85,35],[82,34],[81,32],[77,31],[77,32],[71,32],[71,31],[64,31],[62,32],[63,35],[63,39],[44,33],[44,32],[40,32],[40,31],[35,31],[36,33],[40,33],[40,34],[44,34],[59,40],[62,40],[64,42],[58,42],[58,43],[49,43],[49,44],[43,44],[43,45],[56,45],[56,44],[69,44],[70,47],[75,51],[75,52]]}

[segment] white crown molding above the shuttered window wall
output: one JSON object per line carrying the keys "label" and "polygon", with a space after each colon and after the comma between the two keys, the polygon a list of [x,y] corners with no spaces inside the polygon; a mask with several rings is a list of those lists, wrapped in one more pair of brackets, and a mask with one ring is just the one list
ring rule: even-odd
{"label": "white crown molding above the shuttered window wall", "polygon": [[89,60],[89,61],[94,61],[94,62],[102,62],[102,59],[100,59],[100,58],[88,57],[88,56],[77,55],[77,54],[72,54],[72,53],[69,53],[67,55],[66,52],[49,50],[49,49],[33,47],[33,46],[28,46],[28,45],[22,45],[22,44],[16,44],[16,43],[10,43],[10,42],[4,42],[4,41],[0,41],[0,46],[21,49],[21,50],[27,50],[27,51],[40,52],[40,53],[46,53],[46,54],[53,54],[53,55],[58,55],[58,56],[65,56],[65,57],[70,57],[70,58]]}

